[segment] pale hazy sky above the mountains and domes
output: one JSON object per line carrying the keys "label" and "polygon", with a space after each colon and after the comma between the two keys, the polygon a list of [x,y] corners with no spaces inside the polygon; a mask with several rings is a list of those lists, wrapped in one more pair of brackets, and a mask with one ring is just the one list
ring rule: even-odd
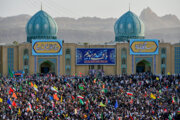
{"label": "pale hazy sky above the mountains and domes", "polygon": [[0,16],[33,15],[40,10],[52,17],[120,17],[129,10],[138,16],[148,6],[158,16],[175,14],[180,18],[180,0],[0,0]]}

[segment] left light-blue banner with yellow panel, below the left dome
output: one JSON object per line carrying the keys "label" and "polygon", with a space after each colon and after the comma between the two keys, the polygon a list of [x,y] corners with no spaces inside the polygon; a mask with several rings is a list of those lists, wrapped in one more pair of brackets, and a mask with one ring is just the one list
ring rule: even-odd
{"label": "left light-blue banner with yellow panel, below the left dome", "polygon": [[62,55],[62,40],[32,40],[32,55]]}

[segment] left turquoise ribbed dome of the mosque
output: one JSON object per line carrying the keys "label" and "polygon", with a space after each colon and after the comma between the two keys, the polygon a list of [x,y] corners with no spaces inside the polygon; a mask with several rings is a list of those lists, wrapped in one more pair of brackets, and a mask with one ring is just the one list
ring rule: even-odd
{"label": "left turquoise ribbed dome of the mosque", "polygon": [[32,16],[26,25],[27,42],[32,42],[32,39],[56,39],[57,32],[55,20],[43,10]]}

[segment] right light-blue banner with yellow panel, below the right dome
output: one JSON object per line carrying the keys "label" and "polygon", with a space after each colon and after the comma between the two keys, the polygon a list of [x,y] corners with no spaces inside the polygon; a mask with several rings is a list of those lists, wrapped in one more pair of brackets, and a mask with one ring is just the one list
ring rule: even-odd
{"label": "right light-blue banner with yellow panel, below the right dome", "polygon": [[131,55],[154,55],[158,54],[159,42],[157,39],[131,39],[130,54]]}

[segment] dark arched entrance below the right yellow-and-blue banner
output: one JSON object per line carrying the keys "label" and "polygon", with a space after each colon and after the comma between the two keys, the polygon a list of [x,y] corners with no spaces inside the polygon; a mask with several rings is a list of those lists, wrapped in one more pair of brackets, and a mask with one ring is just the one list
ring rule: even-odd
{"label": "dark arched entrance below the right yellow-and-blue banner", "polygon": [[136,64],[136,73],[151,72],[151,63],[141,60]]}

